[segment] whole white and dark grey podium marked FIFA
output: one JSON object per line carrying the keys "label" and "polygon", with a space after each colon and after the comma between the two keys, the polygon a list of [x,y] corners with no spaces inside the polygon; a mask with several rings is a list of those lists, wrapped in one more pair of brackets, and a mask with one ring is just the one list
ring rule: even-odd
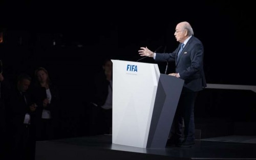
{"label": "whole white and dark grey podium marked FIFA", "polygon": [[157,64],[112,62],[112,143],[165,147],[184,81],[161,74]]}

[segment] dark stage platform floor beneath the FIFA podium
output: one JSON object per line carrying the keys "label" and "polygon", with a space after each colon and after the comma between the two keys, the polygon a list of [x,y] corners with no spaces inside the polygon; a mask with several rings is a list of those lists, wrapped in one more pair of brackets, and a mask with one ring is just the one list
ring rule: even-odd
{"label": "dark stage platform floor beneath the FIFA podium", "polygon": [[256,159],[256,143],[196,140],[193,147],[137,148],[112,144],[111,135],[36,142],[36,160]]}

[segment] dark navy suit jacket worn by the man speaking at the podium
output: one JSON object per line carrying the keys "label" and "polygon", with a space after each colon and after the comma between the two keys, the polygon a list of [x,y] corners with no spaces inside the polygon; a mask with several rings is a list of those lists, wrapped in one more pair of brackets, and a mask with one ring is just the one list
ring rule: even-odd
{"label": "dark navy suit jacket worn by the man speaking at the podium", "polygon": [[204,47],[202,42],[192,36],[184,46],[179,59],[177,59],[180,47],[181,43],[168,56],[163,57],[162,54],[157,53],[155,61],[175,61],[176,73],[179,73],[180,78],[185,81],[183,89],[193,92],[203,90],[206,87],[206,80],[203,70]]}

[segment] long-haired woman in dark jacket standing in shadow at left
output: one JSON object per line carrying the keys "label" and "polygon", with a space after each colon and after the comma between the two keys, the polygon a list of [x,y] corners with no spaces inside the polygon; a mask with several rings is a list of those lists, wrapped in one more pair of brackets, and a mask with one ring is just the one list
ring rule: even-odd
{"label": "long-haired woman in dark jacket standing in shadow at left", "polygon": [[32,95],[38,104],[38,120],[36,126],[37,141],[59,138],[60,108],[59,92],[49,78],[48,71],[39,67],[35,70],[35,83],[32,85]]}

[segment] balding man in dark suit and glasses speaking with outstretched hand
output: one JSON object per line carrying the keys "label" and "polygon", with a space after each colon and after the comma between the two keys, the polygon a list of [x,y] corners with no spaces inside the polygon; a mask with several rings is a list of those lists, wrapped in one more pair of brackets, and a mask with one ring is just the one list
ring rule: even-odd
{"label": "balding man in dark suit and glasses speaking with outstretched hand", "polygon": [[[184,79],[184,85],[171,128],[172,136],[169,143],[179,147],[191,147],[195,145],[195,100],[198,91],[206,87],[203,70],[204,47],[202,42],[194,37],[193,29],[186,21],[177,24],[174,35],[180,44],[172,53],[163,56],[147,47],[141,47],[139,54],[153,57],[156,62],[175,62],[176,73],[168,75]],[[181,141],[183,120],[184,140]]]}

